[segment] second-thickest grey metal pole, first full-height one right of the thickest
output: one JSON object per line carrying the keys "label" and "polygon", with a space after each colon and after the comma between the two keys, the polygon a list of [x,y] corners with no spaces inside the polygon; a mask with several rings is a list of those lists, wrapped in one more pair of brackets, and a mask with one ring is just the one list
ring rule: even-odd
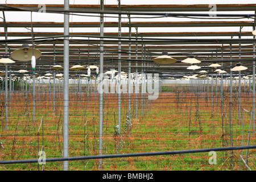
{"label": "second-thickest grey metal pole, first full-height one right of the thickest", "polygon": [[[104,11],[104,0],[101,0],[101,11]],[[103,36],[104,36],[104,14],[101,14],[100,18],[100,82],[103,81],[103,67],[104,67],[104,59],[103,59],[103,51],[104,51],[104,42],[103,42]],[[96,79],[95,79],[96,84]],[[100,93],[100,109],[99,109],[99,115],[100,115],[100,123],[99,123],[99,147],[98,147],[98,153],[99,155],[102,155],[102,133],[103,133],[103,94]],[[102,159],[99,160],[99,169],[102,169]]]}

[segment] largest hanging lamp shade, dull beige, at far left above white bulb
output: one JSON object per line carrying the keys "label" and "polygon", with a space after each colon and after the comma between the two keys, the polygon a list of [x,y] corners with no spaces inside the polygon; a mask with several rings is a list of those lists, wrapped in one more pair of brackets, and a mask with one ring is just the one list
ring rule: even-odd
{"label": "largest hanging lamp shade, dull beige, at far left above white bulb", "polygon": [[[23,44],[21,48],[16,49],[11,53],[11,58],[17,61],[31,61],[33,56],[32,52],[32,47],[28,46],[28,44]],[[34,48],[35,59],[38,59],[41,55],[41,51]]]}

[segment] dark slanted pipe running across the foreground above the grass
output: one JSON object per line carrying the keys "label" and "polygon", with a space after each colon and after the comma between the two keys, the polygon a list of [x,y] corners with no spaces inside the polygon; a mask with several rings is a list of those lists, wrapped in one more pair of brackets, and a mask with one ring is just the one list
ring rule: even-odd
{"label": "dark slanted pipe running across the foreground above the grass", "polygon": [[[75,157],[65,157],[65,158],[48,158],[48,159],[42,159],[42,161],[45,160],[46,162],[56,162],[56,161],[67,161],[67,160],[125,158],[125,157],[135,157],[135,156],[154,156],[154,155],[188,154],[188,153],[223,151],[223,150],[242,150],[242,149],[249,149],[249,148],[256,148],[256,145],[237,146],[237,147],[201,148],[201,149],[192,149],[192,150],[177,150],[177,151],[162,151],[162,152],[141,152],[141,153],[131,153],[131,154],[109,154],[109,155],[75,156]],[[38,159],[1,160],[0,164],[37,163],[37,162],[38,162]]]}

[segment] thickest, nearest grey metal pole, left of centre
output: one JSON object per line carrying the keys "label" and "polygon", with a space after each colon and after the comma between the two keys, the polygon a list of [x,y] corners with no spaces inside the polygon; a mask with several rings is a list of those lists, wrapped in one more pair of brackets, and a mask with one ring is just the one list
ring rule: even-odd
{"label": "thickest, nearest grey metal pole, left of centre", "polygon": [[[64,10],[69,10],[69,0],[64,0]],[[63,157],[68,157],[69,111],[69,14],[64,14],[64,88],[63,88]],[[68,171],[68,160],[63,161],[63,171]]]}

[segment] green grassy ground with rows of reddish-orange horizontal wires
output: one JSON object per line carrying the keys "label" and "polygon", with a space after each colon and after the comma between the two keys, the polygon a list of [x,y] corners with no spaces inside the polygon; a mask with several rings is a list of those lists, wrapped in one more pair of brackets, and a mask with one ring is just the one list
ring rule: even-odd
{"label": "green grassy ground with rows of reddish-orange horizontal wires", "polygon": [[[69,84],[69,156],[98,155],[97,85]],[[96,89],[95,89],[96,88]],[[32,84],[9,91],[8,130],[5,131],[5,91],[1,92],[0,160],[63,157],[63,84],[36,84],[35,122],[32,119]],[[230,102],[229,85],[163,84],[156,100],[148,94],[131,94],[131,117],[128,94],[121,97],[121,134],[118,123],[118,95],[104,94],[102,155],[139,154],[160,151],[199,150],[252,146],[255,124],[251,119],[252,90],[241,86],[241,112],[238,111],[238,86],[233,84]],[[27,100],[26,100],[27,98]],[[54,104],[53,104],[54,103]],[[245,109],[245,110],[243,110]],[[247,112],[248,111],[248,112]],[[137,118],[136,118],[137,116]],[[209,152],[208,152],[209,153]],[[106,170],[255,170],[255,148],[216,151],[216,164],[209,164],[205,152],[169,155],[106,158]],[[241,158],[242,156],[242,158]],[[243,162],[246,162],[246,164]],[[249,168],[248,168],[249,167]],[[47,162],[44,170],[62,170],[62,162]],[[36,163],[0,165],[0,170],[42,170]],[[98,159],[69,162],[69,170],[98,170]]]}

